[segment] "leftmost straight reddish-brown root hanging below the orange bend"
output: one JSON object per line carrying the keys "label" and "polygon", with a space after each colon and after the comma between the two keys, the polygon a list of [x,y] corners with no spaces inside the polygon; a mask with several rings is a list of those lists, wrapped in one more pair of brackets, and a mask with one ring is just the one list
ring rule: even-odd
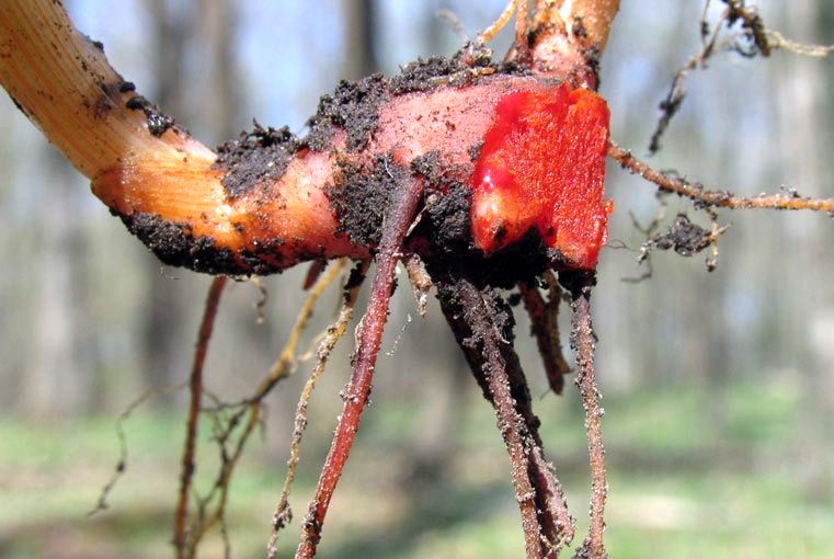
{"label": "leftmost straight reddish-brown root hanging below the orange bend", "polygon": [[199,419],[199,409],[203,400],[203,365],[208,353],[208,342],[212,339],[217,307],[220,304],[220,295],[226,286],[226,276],[215,277],[212,286],[208,288],[206,306],[203,312],[203,321],[199,324],[197,334],[197,344],[194,349],[194,363],[191,369],[190,388],[191,402],[188,407],[188,420],[185,432],[185,447],[182,454],[182,471],[180,474],[180,495],[174,516],[174,548],[176,557],[185,557],[186,552],[186,532],[185,526],[188,516],[188,495],[191,493],[191,481],[194,475],[194,450],[197,440],[197,420]]}

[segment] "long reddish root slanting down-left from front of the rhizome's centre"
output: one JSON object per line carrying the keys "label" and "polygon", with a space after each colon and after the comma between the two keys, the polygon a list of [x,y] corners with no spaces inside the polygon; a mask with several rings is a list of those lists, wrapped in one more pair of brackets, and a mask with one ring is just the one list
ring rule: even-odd
{"label": "long reddish root slanting down-left from front of the rhizome's centre", "polygon": [[377,270],[370,287],[368,308],[358,327],[358,343],[354,356],[353,375],[344,392],[344,408],[339,419],[339,425],[321,469],[316,494],[309,504],[304,522],[296,559],[309,559],[316,555],[330,500],[339,478],[342,476],[344,464],[359,426],[362,411],[370,395],[374,366],[379,353],[382,329],[395,288],[395,271],[400,258],[399,253],[416,214],[423,190],[422,181],[415,176],[409,176],[401,181],[382,224],[382,238],[377,253]]}

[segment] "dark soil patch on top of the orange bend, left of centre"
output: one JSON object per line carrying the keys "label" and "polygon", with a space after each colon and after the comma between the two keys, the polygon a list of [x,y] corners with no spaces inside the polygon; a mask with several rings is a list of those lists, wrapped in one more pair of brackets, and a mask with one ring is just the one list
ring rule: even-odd
{"label": "dark soil patch on top of the orange bend, left of centre", "polygon": [[217,147],[214,168],[226,171],[221,183],[230,198],[240,196],[255,184],[281,179],[298,151],[298,139],[289,128],[264,128],[258,122],[252,132]]}

